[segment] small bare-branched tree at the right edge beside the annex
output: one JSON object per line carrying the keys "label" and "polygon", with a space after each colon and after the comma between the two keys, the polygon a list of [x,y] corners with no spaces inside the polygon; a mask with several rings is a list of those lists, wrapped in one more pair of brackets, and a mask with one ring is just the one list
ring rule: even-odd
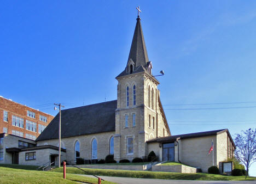
{"label": "small bare-branched tree at the right edge beside the annex", "polygon": [[249,167],[256,161],[256,129],[253,130],[253,128],[249,128],[235,135],[235,157],[245,164],[247,176]]}

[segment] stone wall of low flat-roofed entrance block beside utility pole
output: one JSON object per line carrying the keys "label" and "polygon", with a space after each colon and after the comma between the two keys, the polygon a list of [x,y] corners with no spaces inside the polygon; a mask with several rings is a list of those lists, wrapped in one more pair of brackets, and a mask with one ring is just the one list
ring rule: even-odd
{"label": "stone wall of low flat-roofed entrance block beside utility pole", "polygon": [[[28,160],[26,161],[26,153],[28,152],[36,152],[36,159],[35,160]],[[58,150],[53,149],[42,149],[42,150],[31,150],[31,151],[22,151],[19,153],[19,164],[21,165],[46,165],[50,163],[50,155],[58,154]],[[66,160],[66,153],[61,152],[61,162]],[[55,165],[59,162],[59,157],[55,157]]]}

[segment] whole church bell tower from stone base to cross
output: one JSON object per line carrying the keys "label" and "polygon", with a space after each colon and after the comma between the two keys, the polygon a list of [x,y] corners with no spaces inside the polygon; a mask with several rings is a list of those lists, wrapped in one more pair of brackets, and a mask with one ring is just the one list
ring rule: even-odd
{"label": "whole church bell tower from stone base to cross", "polygon": [[165,136],[170,134],[169,128],[161,126],[162,133],[158,130],[158,114],[161,112],[157,87],[160,83],[152,75],[153,66],[148,59],[139,17],[141,10],[139,7],[137,10],[138,17],[129,57],[124,71],[116,77],[118,94],[115,111],[114,159],[117,161],[147,156],[147,140],[162,137],[164,131],[166,131]]}

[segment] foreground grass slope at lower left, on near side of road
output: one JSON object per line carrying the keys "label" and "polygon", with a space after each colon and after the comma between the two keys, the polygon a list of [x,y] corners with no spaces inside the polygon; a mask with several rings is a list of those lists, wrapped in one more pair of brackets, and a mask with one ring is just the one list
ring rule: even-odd
{"label": "foreground grass slope at lower left, on near side of road", "polygon": [[[29,168],[32,167],[24,167],[24,165],[21,167],[24,169],[0,167],[0,183],[98,183],[97,179],[90,177],[67,174],[66,179],[63,179],[62,173],[30,170]],[[102,181],[102,183],[113,182]]]}

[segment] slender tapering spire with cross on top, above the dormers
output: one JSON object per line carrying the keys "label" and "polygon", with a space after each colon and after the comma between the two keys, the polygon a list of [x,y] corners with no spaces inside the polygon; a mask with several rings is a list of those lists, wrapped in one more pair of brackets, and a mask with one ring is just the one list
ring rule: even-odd
{"label": "slender tapering spire with cross on top, above the dormers", "polygon": [[130,59],[132,59],[136,67],[141,65],[144,68],[147,68],[147,62],[149,62],[149,60],[141,27],[141,19],[139,18],[139,12],[141,12],[141,10],[139,9],[139,7],[137,7],[136,9],[138,10],[138,18],[132,38],[128,62],[130,61]]}

